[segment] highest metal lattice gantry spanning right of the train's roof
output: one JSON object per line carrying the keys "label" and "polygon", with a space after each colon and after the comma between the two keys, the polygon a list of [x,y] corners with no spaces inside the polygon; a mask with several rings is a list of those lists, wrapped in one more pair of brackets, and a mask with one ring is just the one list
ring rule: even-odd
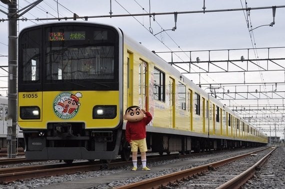
{"label": "highest metal lattice gantry spanning right of the train's roof", "polygon": [[183,74],[285,70],[283,46],[155,53],[167,59],[171,58],[168,63],[180,69]]}

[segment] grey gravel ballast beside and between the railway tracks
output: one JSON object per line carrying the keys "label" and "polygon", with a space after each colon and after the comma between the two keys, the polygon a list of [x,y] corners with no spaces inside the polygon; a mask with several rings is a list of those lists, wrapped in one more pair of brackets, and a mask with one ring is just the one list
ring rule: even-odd
{"label": "grey gravel ballast beside and between the railway tracks", "polygon": [[[236,151],[236,154],[239,153],[244,153],[245,150],[248,152],[252,151],[252,148],[248,149],[241,149]],[[217,154],[221,154],[222,158],[228,158],[230,156],[233,156],[233,154],[228,155],[229,152],[226,151],[221,151],[218,152]],[[231,151],[232,153],[232,151]],[[235,154],[235,155],[236,155]],[[203,156],[193,156],[189,158],[201,158],[205,156],[214,156],[216,153],[212,154],[207,154]],[[244,184],[243,188],[285,188],[285,181],[284,181],[284,172],[285,172],[285,161],[284,161],[284,156],[285,156],[285,148],[282,147],[277,147],[277,149],[273,152],[273,154],[269,157],[269,160],[267,160],[260,168],[260,170],[254,175],[252,180],[248,181],[248,183]],[[116,180],[116,181],[111,181],[108,183],[102,183],[98,185],[94,185],[92,187],[89,187],[90,189],[96,189],[96,188],[113,188],[118,185],[123,185],[127,183],[132,183],[136,182],[142,179],[147,179],[151,177],[155,177],[158,175],[163,175],[167,174],[173,171],[179,171],[183,170],[186,168],[191,168],[194,166],[202,165],[202,164],[207,164],[216,160],[220,160],[221,157],[218,158],[210,158],[208,160],[201,160],[197,161],[196,163],[193,163],[191,165],[186,165],[182,167],[175,167],[171,169],[163,169],[162,171],[158,172],[145,172],[144,174],[141,174],[140,176],[136,177],[129,177],[124,180]],[[163,160],[159,162],[149,162],[147,163],[148,166],[154,167],[154,166],[161,166],[163,164],[169,164],[169,163],[174,163],[176,161],[183,161],[183,159],[171,159],[171,160]],[[37,163],[46,163],[46,162],[37,162]],[[18,166],[23,166],[18,165]],[[112,175],[115,173],[124,173],[129,171],[131,166],[123,166],[120,168],[116,169],[106,169],[106,170],[100,170],[100,171],[89,171],[89,172],[78,172],[75,174],[64,174],[60,176],[51,176],[51,177],[46,177],[46,178],[36,178],[36,179],[29,179],[29,180],[22,180],[22,181],[14,181],[8,184],[0,184],[0,188],[3,189],[18,189],[18,188],[24,188],[24,189],[29,189],[29,188],[40,188],[42,186],[46,186],[48,184],[54,184],[54,183],[62,183],[66,182],[68,180],[77,180],[77,179],[86,179],[86,178],[92,178],[96,179],[98,176],[107,176],[107,175]],[[260,182],[260,183],[258,183]]]}

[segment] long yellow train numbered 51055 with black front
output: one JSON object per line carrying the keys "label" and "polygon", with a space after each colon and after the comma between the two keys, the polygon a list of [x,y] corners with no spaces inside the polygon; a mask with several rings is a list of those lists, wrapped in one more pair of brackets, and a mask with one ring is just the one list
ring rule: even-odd
{"label": "long yellow train numbered 51055 with black front", "polygon": [[147,145],[169,153],[257,146],[267,136],[119,28],[58,22],[18,37],[18,124],[27,159],[129,158],[123,113],[153,119]]}

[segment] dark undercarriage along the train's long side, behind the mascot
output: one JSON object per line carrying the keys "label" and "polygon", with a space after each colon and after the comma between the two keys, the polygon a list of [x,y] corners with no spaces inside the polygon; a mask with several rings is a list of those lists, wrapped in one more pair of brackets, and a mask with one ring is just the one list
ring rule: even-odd
{"label": "dark undercarriage along the train's long side, behind the mascot", "polygon": [[[174,134],[163,134],[148,132],[146,134],[146,143],[150,152],[170,154],[170,152],[179,152],[181,154],[199,153],[210,150],[222,150],[241,147],[256,147],[265,145],[264,143],[231,140],[221,138],[196,137]],[[130,147],[126,142],[122,142],[120,155],[124,160],[129,159]]]}

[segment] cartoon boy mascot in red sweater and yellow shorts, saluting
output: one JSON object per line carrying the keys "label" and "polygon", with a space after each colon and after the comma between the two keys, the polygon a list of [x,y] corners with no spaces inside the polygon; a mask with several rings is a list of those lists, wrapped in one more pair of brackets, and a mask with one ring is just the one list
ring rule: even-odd
{"label": "cartoon boy mascot in red sweater and yellow shorts, saluting", "polygon": [[146,167],[145,152],[147,151],[147,146],[145,139],[145,126],[151,121],[152,115],[148,111],[133,105],[126,108],[123,118],[127,120],[125,126],[125,139],[130,144],[132,151],[133,167],[131,170],[137,169],[138,148],[141,154],[142,170],[150,170],[148,167]]}

